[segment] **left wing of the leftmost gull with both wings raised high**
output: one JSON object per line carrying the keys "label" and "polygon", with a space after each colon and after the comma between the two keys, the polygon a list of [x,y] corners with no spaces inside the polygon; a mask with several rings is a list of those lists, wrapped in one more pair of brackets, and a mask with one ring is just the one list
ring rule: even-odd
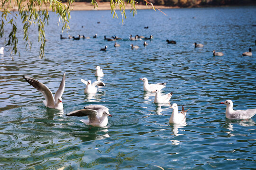
{"label": "left wing of the leftmost gull with both wings raised high", "polygon": [[43,83],[40,83],[39,81],[35,80],[34,78],[31,78],[29,76],[23,76],[23,78],[35,87],[38,91],[40,91],[44,97],[46,98],[46,106],[47,107],[55,107],[55,100],[53,97],[53,93],[44,85]]}

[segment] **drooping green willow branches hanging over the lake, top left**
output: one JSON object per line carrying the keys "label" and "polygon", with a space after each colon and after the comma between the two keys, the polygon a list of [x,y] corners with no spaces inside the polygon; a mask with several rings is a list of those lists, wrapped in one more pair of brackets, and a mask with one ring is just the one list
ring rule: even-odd
{"label": "drooping green willow branches hanging over the lake, top left", "polygon": [[[60,0],[2,0],[0,4],[1,22],[0,22],[0,38],[4,36],[5,26],[11,26],[9,31],[9,40],[5,46],[10,46],[11,54],[18,52],[18,37],[17,37],[17,19],[20,17],[22,21],[22,30],[24,32],[23,40],[26,44],[26,50],[31,49],[32,43],[29,40],[29,27],[32,25],[38,26],[38,42],[41,43],[39,50],[39,58],[44,57],[46,36],[45,26],[48,25],[49,13],[48,10],[52,10],[59,16],[59,22],[63,24],[62,31],[69,29],[68,23],[70,19],[70,5],[74,0],[66,0],[67,3],[63,3]],[[91,0],[94,8],[98,7],[96,0]],[[128,0],[132,6],[131,12],[136,14],[135,0]],[[120,9],[122,20],[126,18],[125,15],[125,1],[124,0],[110,0],[111,13],[113,17],[118,17],[116,8]],[[17,9],[18,12],[14,12]],[[11,12],[12,11],[12,12]],[[12,55],[11,55],[12,56]]]}

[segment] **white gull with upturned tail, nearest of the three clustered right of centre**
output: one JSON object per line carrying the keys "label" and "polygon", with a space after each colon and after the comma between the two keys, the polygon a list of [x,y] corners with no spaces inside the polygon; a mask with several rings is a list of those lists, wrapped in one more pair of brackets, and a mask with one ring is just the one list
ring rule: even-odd
{"label": "white gull with upturned tail, nearest of the three clustered right of centre", "polygon": [[185,124],[186,123],[186,113],[188,110],[184,110],[184,107],[182,106],[182,111],[179,113],[178,105],[174,103],[171,107],[173,109],[173,113],[171,118],[169,119],[169,123],[173,124]]}

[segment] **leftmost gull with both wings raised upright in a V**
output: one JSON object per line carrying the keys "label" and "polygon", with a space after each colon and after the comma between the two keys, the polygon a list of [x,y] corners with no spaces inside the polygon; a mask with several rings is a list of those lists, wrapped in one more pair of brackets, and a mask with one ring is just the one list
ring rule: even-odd
{"label": "leftmost gull with both wings raised upright in a V", "polygon": [[58,88],[58,90],[55,93],[55,96],[53,96],[53,93],[48,89],[48,87],[46,87],[46,85],[40,83],[39,81],[29,77],[29,76],[23,76],[23,78],[33,87],[35,87],[38,91],[40,91],[44,97],[46,98],[46,100],[44,100],[44,104],[46,105],[46,107],[48,108],[52,108],[52,109],[63,109],[63,103],[62,103],[62,94],[64,92],[64,88],[65,88],[65,76],[66,73],[64,73],[63,77],[62,77],[62,81],[61,84]]}

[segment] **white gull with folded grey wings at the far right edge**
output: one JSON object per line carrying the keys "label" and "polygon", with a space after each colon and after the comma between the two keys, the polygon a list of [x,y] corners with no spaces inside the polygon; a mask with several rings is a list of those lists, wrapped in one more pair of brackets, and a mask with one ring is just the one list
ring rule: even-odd
{"label": "white gull with folded grey wings at the far right edge", "polygon": [[220,102],[220,104],[225,104],[227,106],[226,118],[228,119],[250,119],[256,114],[256,109],[233,110],[233,102],[231,100]]}

